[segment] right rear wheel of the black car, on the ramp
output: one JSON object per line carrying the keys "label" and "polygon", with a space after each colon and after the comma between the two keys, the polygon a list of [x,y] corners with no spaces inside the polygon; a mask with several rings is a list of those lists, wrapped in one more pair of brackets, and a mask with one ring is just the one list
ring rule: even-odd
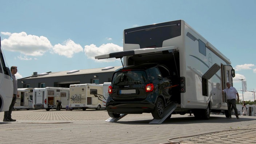
{"label": "right rear wheel of the black car, on the ramp", "polygon": [[154,119],[162,119],[164,117],[164,101],[161,98],[157,98],[155,109],[152,112]]}

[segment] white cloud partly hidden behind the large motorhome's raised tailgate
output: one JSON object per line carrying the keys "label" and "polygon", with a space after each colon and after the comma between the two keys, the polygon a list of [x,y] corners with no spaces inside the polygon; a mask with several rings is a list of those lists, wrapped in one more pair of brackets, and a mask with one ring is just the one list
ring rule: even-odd
{"label": "white cloud partly hidden behind the large motorhome's raised tailgate", "polygon": [[96,60],[95,56],[104,55],[112,52],[120,52],[120,51],[123,51],[123,47],[120,47],[119,45],[116,45],[113,43],[103,44],[100,47],[96,47],[96,45],[94,44],[84,46],[85,55],[89,59],[93,59],[98,62],[115,61],[116,58]]}

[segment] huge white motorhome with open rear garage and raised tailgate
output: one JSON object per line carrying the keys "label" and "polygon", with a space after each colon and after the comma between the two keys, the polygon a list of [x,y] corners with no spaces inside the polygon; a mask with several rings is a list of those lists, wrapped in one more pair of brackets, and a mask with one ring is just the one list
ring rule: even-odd
{"label": "huge white motorhome with open rear garage and raised tailgate", "polygon": [[124,67],[166,65],[180,79],[179,92],[171,97],[170,105],[174,106],[168,115],[193,113],[197,118],[209,119],[210,112],[225,110],[227,114],[227,99],[221,90],[227,82],[232,85],[235,77],[231,61],[185,21],[125,29],[123,39],[122,52],[95,59],[123,58]]}

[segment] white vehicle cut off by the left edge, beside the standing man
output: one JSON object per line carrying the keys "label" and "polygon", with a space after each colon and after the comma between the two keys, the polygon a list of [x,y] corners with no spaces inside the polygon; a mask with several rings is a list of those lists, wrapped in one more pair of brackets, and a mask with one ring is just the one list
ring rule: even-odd
{"label": "white vehicle cut off by the left edge, beside the standing man", "polygon": [[13,97],[12,74],[0,40],[0,112],[8,111]]}

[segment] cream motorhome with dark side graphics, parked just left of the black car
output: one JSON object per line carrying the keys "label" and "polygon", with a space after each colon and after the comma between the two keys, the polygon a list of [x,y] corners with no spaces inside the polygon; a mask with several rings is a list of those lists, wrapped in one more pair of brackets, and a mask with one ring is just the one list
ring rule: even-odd
{"label": "cream motorhome with dark side graphics, parked just left of the black car", "polygon": [[87,108],[95,108],[96,110],[105,108],[106,97],[108,95],[106,95],[103,89],[108,91],[107,88],[110,84],[111,83],[69,85],[69,107],[72,109],[81,108],[84,111]]}

